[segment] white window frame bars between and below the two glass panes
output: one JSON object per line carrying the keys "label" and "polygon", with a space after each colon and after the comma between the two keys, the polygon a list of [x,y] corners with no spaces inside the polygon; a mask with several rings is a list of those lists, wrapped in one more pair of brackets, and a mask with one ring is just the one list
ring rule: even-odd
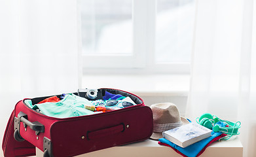
{"label": "white window frame bars between and below the two glass panes", "polygon": [[190,73],[190,63],[155,62],[156,0],[133,0],[132,21],[132,54],[82,55],[84,73]]}

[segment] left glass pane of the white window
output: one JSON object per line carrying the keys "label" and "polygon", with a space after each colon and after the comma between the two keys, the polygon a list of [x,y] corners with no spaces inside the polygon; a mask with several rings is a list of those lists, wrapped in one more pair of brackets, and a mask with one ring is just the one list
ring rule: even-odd
{"label": "left glass pane of the white window", "polygon": [[81,1],[83,53],[132,54],[132,1]]}

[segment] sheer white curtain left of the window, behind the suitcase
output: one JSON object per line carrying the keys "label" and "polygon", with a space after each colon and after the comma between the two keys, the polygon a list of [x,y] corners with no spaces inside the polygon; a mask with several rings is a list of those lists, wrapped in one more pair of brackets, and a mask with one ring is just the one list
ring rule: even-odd
{"label": "sheer white curtain left of the window, behind the suitcase", "polygon": [[2,143],[7,120],[20,99],[75,92],[79,87],[77,1],[0,0],[0,20]]}

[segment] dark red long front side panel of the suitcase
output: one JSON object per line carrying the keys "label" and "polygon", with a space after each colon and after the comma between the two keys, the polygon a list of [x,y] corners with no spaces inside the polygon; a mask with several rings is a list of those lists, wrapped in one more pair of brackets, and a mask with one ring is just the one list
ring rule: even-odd
{"label": "dark red long front side panel of the suitcase", "polygon": [[[55,157],[77,156],[143,141],[148,139],[152,132],[153,115],[147,106],[70,118],[52,124],[52,151]],[[93,136],[90,133],[93,133]]]}

